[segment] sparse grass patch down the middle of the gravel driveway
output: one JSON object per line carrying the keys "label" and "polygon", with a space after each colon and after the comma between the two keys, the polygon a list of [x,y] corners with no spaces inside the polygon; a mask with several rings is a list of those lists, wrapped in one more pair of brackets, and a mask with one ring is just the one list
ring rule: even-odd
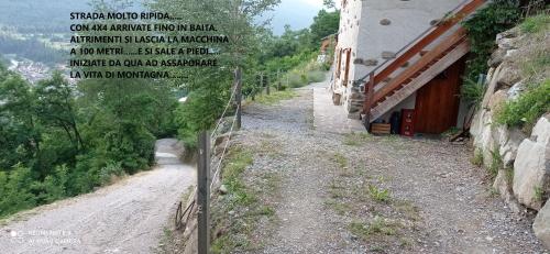
{"label": "sparse grass patch down the middle of the gravel driveway", "polygon": [[[350,134],[358,140],[361,134]],[[370,135],[361,135],[369,140]],[[324,156],[336,167],[345,165],[345,175],[337,174],[327,186],[324,206],[348,221],[345,229],[356,241],[372,246],[372,252],[403,252],[415,245],[419,209],[411,202],[392,197],[392,177],[373,176],[365,172],[365,162],[343,154]],[[345,218],[345,219],[344,219]]]}

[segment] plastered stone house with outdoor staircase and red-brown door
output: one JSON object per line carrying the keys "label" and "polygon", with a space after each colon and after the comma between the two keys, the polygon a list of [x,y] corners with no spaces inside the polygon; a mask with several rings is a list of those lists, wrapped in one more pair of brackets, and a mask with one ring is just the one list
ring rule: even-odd
{"label": "plastered stone house with outdoor staircase and red-brown door", "polygon": [[[447,25],[447,19],[462,20],[483,3],[475,0],[342,0],[336,68],[331,80],[334,103],[342,104],[349,118],[364,117],[367,95],[364,89],[369,73],[375,70],[374,74],[378,75],[394,62],[403,60],[398,68],[374,84],[373,93],[383,91],[384,86],[392,85],[403,73],[421,67],[419,64],[426,58],[424,56],[429,56],[430,51],[438,49],[440,44],[452,37],[460,30],[460,22],[451,22],[444,33],[427,41],[418,54],[407,56],[409,58],[405,60],[404,55],[438,26]],[[446,63],[427,62],[428,70],[419,68],[425,73],[413,71],[410,77],[404,79],[415,79],[413,75],[421,74],[419,76],[424,81],[419,81],[422,84],[408,86],[408,91],[394,89],[383,95],[388,99],[373,101],[372,108],[369,107],[369,121],[387,122],[393,112],[414,109],[418,132],[441,133],[461,125],[465,111],[460,110],[464,106],[461,106],[459,97],[464,55],[468,53],[464,40],[459,42],[462,43],[460,45],[442,48],[444,54],[453,54],[444,59]],[[438,55],[433,59],[443,56]],[[397,85],[406,87],[405,82]]]}

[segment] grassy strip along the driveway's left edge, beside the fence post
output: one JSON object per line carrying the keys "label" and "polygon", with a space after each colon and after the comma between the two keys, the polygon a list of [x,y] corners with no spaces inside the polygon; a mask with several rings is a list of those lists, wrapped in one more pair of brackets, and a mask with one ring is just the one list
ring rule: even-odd
{"label": "grassy strip along the driveway's left edge, beside the fence post", "polygon": [[228,194],[212,201],[212,253],[241,253],[257,250],[263,239],[255,235],[260,227],[276,222],[275,208],[266,195],[277,191],[280,179],[264,173],[251,177],[246,168],[254,162],[252,148],[235,145],[230,148],[222,170],[222,184]]}

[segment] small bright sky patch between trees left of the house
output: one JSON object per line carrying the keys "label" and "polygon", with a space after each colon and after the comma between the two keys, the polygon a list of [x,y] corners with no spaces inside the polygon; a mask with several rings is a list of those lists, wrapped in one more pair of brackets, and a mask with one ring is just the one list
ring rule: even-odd
{"label": "small bright sky patch between trees left of the house", "polygon": [[273,18],[273,32],[280,35],[285,24],[289,24],[293,30],[309,27],[321,9],[322,0],[282,0],[275,11],[265,16]]}

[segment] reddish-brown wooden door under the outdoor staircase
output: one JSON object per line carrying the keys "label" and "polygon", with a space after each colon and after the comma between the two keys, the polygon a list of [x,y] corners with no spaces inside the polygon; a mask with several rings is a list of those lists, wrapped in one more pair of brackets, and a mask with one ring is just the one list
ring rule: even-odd
{"label": "reddish-brown wooden door under the outdoor staircase", "polygon": [[418,90],[415,106],[416,132],[440,134],[457,126],[463,73],[464,58]]}

